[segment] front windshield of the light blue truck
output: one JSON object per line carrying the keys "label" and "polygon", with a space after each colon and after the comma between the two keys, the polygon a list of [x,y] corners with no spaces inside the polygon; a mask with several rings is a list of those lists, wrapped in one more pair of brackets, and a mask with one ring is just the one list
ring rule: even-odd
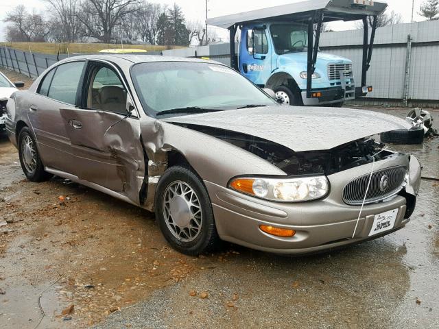
{"label": "front windshield of the light blue truck", "polygon": [[278,55],[307,51],[307,25],[274,24],[270,27],[274,49]]}

